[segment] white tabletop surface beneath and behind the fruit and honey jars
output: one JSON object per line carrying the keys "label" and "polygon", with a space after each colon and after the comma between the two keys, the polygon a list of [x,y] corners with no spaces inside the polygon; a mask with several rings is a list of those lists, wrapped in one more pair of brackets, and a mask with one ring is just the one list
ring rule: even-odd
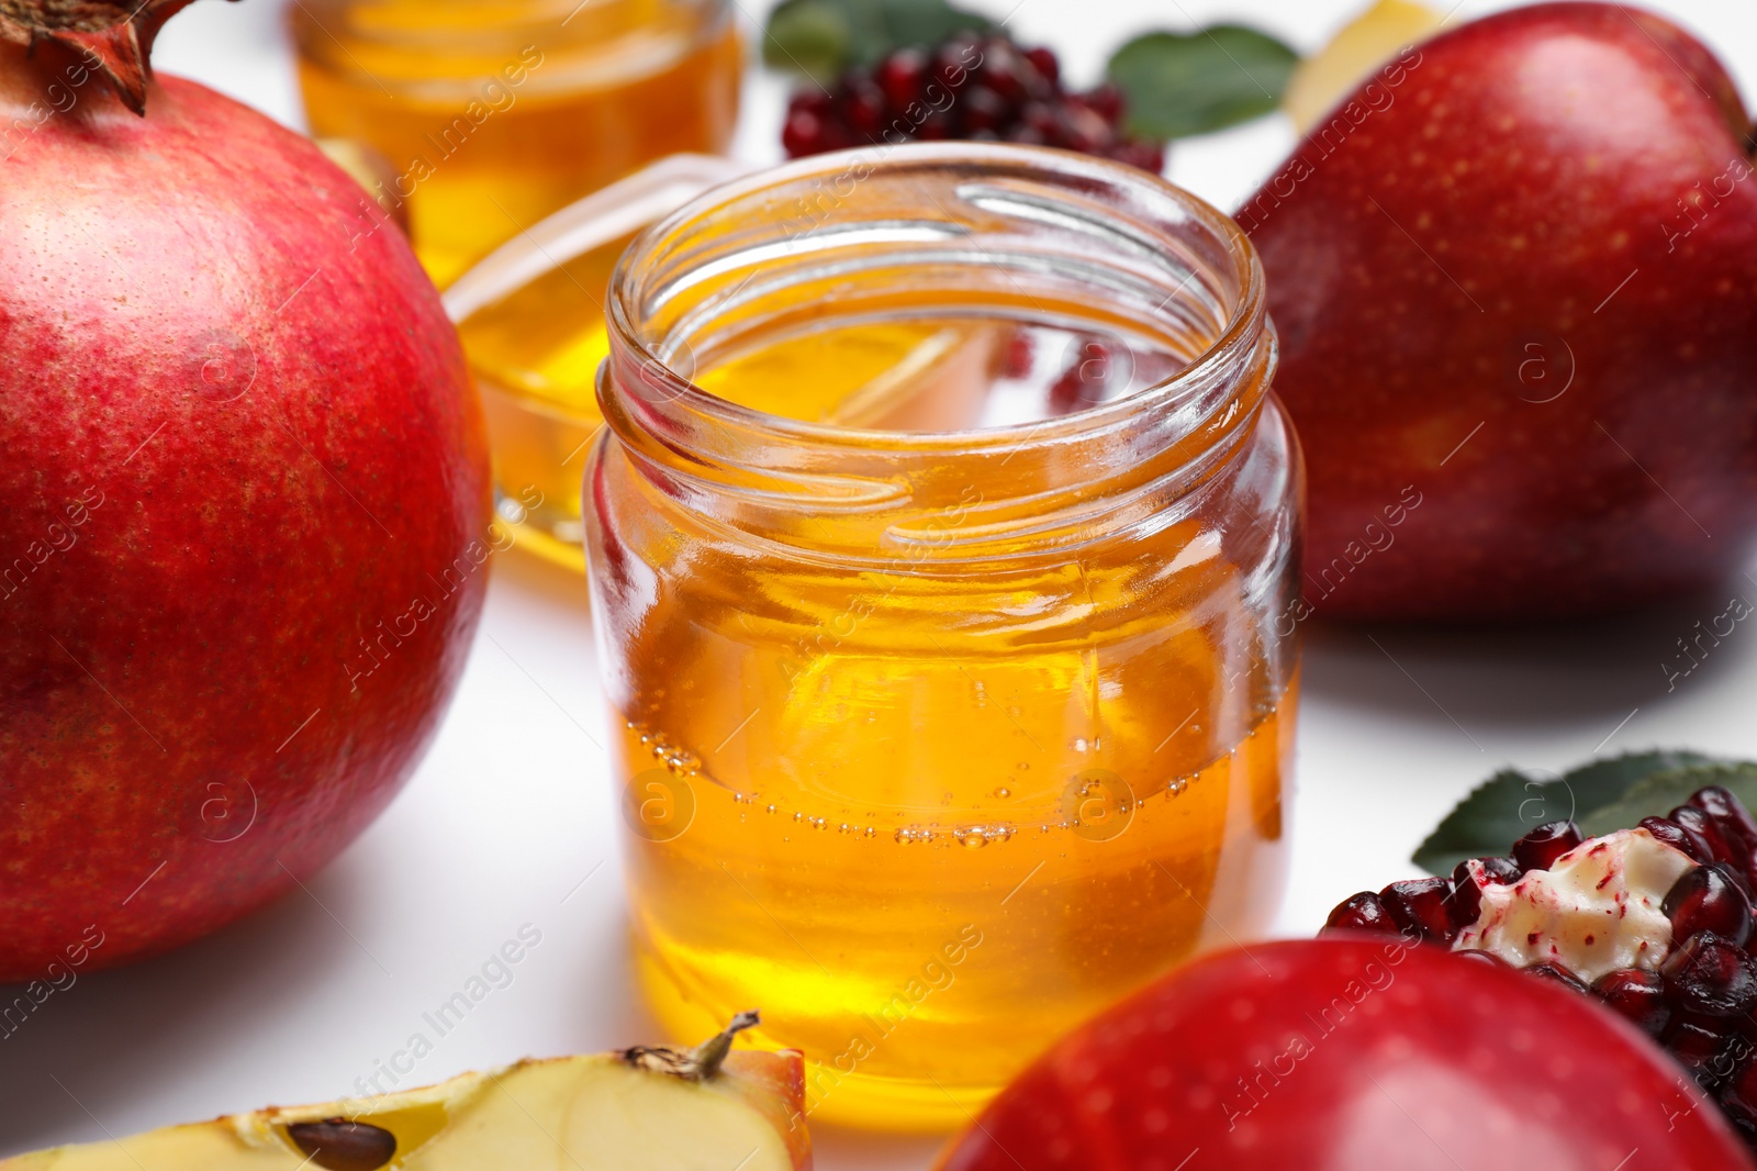
{"label": "white tabletop surface beneath and behind the fruit and honey jars", "polygon": [[[1003,16],[1010,4],[982,7]],[[1023,0],[1012,25],[1088,81],[1147,26],[1246,16],[1311,49],[1351,7]],[[1465,4],[1460,18],[1488,7]],[[1653,7],[1704,35],[1757,95],[1757,9]],[[747,9],[748,21],[759,5]],[[209,0],[170,25],[158,63],[297,125],[279,30],[276,0]],[[773,153],[780,93],[756,83],[745,155]],[[1182,144],[1172,178],[1230,206],[1290,144],[1279,121]],[[1757,601],[1757,584],[1745,587]],[[1500,765],[1562,770],[1657,744],[1757,756],[1757,635],[1725,640],[1666,691],[1674,640],[1724,608],[1711,596],[1576,628],[1370,638],[1314,624],[1279,930],[1311,934],[1342,895],[1411,872],[1421,835]],[[601,723],[583,586],[503,557],[457,703],[408,791],[307,891],[181,953],[81,978],[0,1043],[0,1153],[355,1092],[524,923],[543,939],[511,983],[395,1085],[652,1039],[624,964]],[[819,1167],[924,1167],[935,1146],[819,1131]]]}

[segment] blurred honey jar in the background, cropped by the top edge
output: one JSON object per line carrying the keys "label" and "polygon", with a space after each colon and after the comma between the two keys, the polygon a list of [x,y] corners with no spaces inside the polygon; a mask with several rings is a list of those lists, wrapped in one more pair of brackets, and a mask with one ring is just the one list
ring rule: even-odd
{"label": "blurred honey jar in the background, cropped by the top edge", "polygon": [[729,0],[300,0],[313,134],[395,169],[441,287],[641,164],[720,151],[738,114]]}

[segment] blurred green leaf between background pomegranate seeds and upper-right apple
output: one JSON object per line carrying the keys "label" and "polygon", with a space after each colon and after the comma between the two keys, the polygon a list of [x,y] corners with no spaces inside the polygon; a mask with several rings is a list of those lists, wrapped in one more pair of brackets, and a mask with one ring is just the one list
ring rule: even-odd
{"label": "blurred green leaf between background pomegranate seeds and upper-right apple", "polygon": [[1135,37],[1116,51],[1105,76],[1128,98],[1130,134],[1170,141],[1270,113],[1298,60],[1269,33],[1212,25]]}

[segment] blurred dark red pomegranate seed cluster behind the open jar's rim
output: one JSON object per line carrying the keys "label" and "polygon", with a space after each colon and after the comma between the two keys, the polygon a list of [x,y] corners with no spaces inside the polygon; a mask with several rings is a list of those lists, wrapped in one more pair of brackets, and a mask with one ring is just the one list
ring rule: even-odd
{"label": "blurred dark red pomegranate seed cluster behind the open jar's rim", "polygon": [[959,33],[933,49],[910,46],[871,69],[850,69],[833,90],[799,90],[782,146],[799,158],[878,142],[1024,142],[1161,171],[1165,148],[1130,137],[1121,123],[1116,86],[1070,93],[1049,49]]}

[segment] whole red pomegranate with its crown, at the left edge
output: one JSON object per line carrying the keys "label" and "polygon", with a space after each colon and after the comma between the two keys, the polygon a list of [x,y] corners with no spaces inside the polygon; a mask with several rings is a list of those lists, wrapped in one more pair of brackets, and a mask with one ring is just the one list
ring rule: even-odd
{"label": "whole red pomegranate with its crown, at the left edge", "polygon": [[495,547],[434,287],[307,141],[151,79],[183,4],[0,2],[0,981],[176,946],[346,846]]}

